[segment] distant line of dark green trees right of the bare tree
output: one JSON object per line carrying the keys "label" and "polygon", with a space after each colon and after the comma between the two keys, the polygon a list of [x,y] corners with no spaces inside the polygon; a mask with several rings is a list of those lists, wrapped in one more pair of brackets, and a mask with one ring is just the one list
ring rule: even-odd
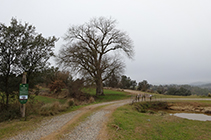
{"label": "distant line of dark green trees right of the bare tree", "polygon": [[115,73],[104,82],[104,86],[112,88],[133,89],[140,91],[149,91],[158,94],[190,96],[202,95],[208,96],[211,93],[211,88],[201,88],[190,85],[151,85],[147,80],[136,82],[126,75],[115,75]]}

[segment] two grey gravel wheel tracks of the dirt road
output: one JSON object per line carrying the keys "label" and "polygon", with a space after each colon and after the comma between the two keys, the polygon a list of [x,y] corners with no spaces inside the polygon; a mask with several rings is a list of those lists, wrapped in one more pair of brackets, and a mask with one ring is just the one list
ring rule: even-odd
{"label": "two grey gravel wheel tracks of the dirt road", "polygon": [[[122,103],[123,102],[123,103]],[[108,105],[108,104],[114,104],[110,105],[109,107],[112,106],[118,106],[122,104],[128,103],[128,100],[125,101],[112,101],[112,102],[106,102],[106,103],[100,103],[100,104],[95,104],[95,105],[90,105],[85,107],[84,109],[90,109],[90,107],[98,107],[102,105]],[[82,113],[83,109],[81,110],[76,110],[70,113],[66,113],[63,115],[55,116],[52,117],[51,119],[43,120],[40,124],[38,124],[38,127],[34,131],[24,131],[14,137],[7,138],[7,140],[38,140],[42,137],[45,137],[52,132],[59,130],[62,126],[64,126],[67,122],[69,122],[71,119],[74,118],[74,116]],[[76,128],[71,135],[67,135],[67,139],[72,139],[76,137],[76,139],[83,139],[83,140],[88,140],[88,139],[96,139],[101,127],[103,121],[106,120],[105,115],[108,114],[110,111],[97,111],[90,117],[88,117],[88,121],[82,122],[80,128]],[[83,130],[85,131],[81,131]],[[84,129],[86,128],[86,129]],[[86,136],[89,135],[90,138],[86,138]],[[66,138],[66,137],[65,137]]]}

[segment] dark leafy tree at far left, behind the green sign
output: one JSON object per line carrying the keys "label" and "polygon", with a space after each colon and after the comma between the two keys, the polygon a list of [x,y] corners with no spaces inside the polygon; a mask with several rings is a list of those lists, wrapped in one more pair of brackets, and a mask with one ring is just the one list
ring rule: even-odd
{"label": "dark leafy tree at far left, behind the green sign", "polygon": [[35,32],[34,26],[22,24],[15,18],[12,18],[10,26],[0,23],[0,91],[6,94],[7,105],[12,92],[11,78],[27,72],[28,82],[29,79],[32,81],[33,74],[48,66],[56,41],[56,37],[44,38]]}

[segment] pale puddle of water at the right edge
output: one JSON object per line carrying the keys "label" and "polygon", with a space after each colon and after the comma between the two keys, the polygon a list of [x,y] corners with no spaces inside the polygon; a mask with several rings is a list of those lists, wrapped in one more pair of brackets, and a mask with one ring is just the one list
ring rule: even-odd
{"label": "pale puddle of water at the right edge", "polygon": [[186,118],[189,120],[199,120],[199,121],[211,121],[211,116],[205,114],[196,114],[196,113],[175,113],[170,114],[180,118]]}

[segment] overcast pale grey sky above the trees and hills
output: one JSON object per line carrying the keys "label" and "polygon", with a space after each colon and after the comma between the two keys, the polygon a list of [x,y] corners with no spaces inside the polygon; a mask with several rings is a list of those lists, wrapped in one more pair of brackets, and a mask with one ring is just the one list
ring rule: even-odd
{"label": "overcast pale grey sky above the trees and hills", "polygon": [[210,0],[0,0],[0,22],[15,17],[45,37],[57,53],[71,25],[112,17],[134,43],[125,75],[150,84],[211,82]]}

